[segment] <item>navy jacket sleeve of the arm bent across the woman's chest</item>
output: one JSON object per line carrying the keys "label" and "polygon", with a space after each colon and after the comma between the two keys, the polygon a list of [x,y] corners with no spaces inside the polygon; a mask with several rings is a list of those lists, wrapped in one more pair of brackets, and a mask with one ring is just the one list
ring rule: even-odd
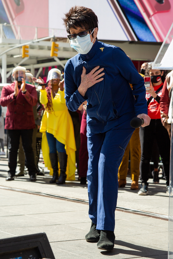
{"label": "navy jacket sleeve of the arm bent across the woman's chest", "polygon": [[73,79],[74,67],[70,62],[67,62],[64,69],[65,82],[65,100],[70,111],[77,111],[79,106],[87,100],[78,92],[78,87]]}

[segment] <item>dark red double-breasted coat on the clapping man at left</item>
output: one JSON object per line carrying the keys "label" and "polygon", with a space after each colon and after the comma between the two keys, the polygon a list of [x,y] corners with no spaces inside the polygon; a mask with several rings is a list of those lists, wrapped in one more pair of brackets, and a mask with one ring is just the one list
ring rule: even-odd
{"label": "dark red double-breasted coat on the clapping man at left", "polygon": [[35,120],[33,106],[37,104],[37,92],[35,86],[26,84],[27,92],[22,94],[19,89],[14,98],[14,84],[4,86],[1,92],[0,104],[7,106],[5,129],[33,129]]}

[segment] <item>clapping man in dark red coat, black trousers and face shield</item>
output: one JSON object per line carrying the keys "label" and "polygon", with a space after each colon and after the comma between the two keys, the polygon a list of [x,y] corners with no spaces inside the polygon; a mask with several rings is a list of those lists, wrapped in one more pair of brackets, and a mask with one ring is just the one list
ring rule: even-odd
{"label": "clapping man in dark red coat, black trousers and face shield", "polygon": [[8,177],[6,181],[14,180],[17,166],[17,152],[20,136],[25,152],[27,168],[31,181],[36,181],[36,167],[32,149],[32,134],[35,128],[33,107],[37,104],[37,92],[33,85],[25,83],[25,67],[13,69],[12,84],[4,86],[1,92],[0,104],[7,106],[5,129],[8,133]]}

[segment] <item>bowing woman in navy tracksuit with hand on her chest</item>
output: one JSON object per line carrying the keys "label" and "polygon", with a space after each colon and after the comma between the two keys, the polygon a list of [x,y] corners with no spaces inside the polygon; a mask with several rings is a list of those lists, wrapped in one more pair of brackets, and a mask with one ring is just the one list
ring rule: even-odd
{"label": "bowing woman in navy tracksuit with hand on her chest", "polygon": [[[144,79],[122,49],[97,41],[98,20],[91,9],[75,6],[64,24],[79,54],[65,65],[65,99],[71,111],[87,100],[88,194],[92,220],[86,241],[114,247],[118,168],[134,129],[133,117],[149,124]],[[133,85],[133,91],[129,85]]]}

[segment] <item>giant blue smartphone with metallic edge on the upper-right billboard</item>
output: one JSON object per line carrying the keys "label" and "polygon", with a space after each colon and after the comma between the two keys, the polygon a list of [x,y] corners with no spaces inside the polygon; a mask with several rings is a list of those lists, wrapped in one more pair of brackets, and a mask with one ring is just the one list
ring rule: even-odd
{"label": "giant blue smartphone with metallic edge on the upper-right billboard", "polygon": [[107,1],[119,20],[129,41],[157,41],[133,0]]}

